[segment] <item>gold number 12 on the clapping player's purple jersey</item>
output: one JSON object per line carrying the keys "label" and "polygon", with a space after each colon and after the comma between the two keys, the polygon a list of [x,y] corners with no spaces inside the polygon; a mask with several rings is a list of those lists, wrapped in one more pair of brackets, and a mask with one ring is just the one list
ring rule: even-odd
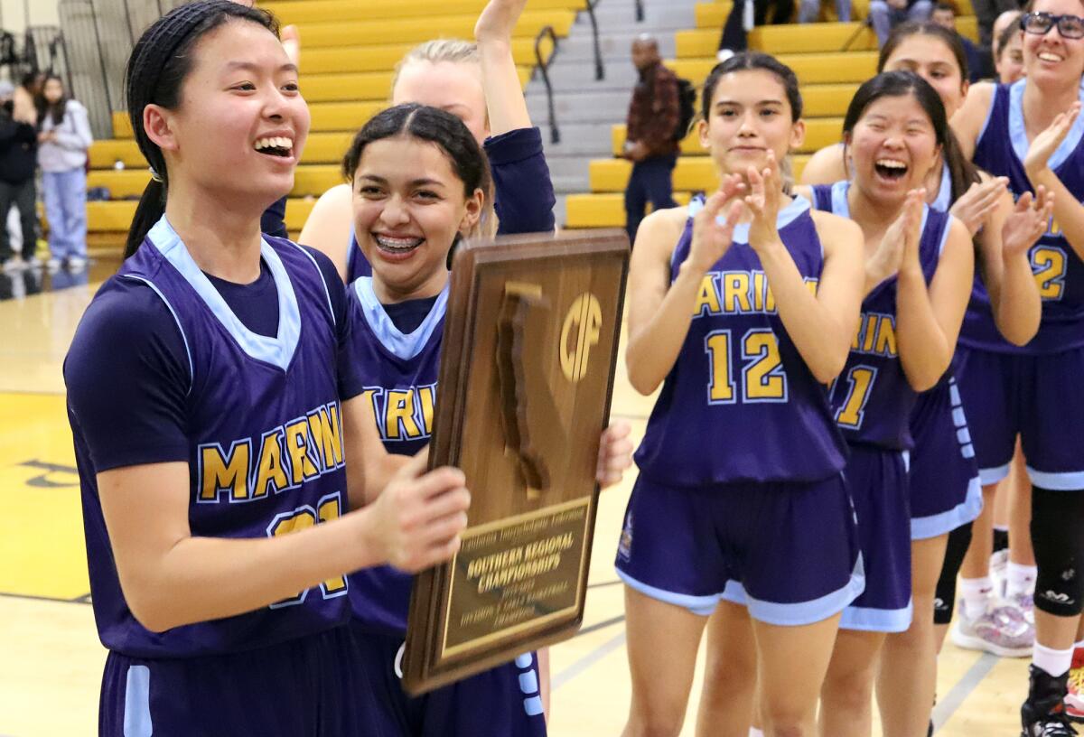
{"label": "gold number 12 on the clapping player's purple jersey", "polygon": [[[733,404],[736,399],[734,358],[731,353],[731,331],[714,331],[704,340],[711,376],[708,382],[708,403]],[[779,341],[770,329],[751,329],[741,338],[741,401],[787,401],[787,375],[779,358]]]}

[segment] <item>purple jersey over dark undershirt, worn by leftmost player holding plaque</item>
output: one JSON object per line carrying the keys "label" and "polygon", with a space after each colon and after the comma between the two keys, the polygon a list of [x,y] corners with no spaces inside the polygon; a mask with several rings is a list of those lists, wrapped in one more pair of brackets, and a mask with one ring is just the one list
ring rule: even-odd
{"label": "purple jersey over dark undershirt, worn by leftmost player holding plaque", "polygon": [[[312,256],[289,241],[268,236],[260,253],[278,290],[275,337],[241,323],[165,218],[114,276],[154,289],[188,350],[193,536],[287,534],[347,510],[327,286]],[[75,447],[80,468],[92,469],[78,434]],[[346,620],[347,581],[340,577],[244,615],[150,632],[120,590],[94,476],[81,477],[94,617],[111,650],[136,658],[236,652]]]}

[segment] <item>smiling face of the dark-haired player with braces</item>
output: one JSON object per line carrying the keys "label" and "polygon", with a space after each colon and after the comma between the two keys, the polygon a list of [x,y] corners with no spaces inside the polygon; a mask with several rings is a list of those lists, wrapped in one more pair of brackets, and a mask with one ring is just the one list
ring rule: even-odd
{"label": "smiling face of the dark-haired player with braces", "polygon": [[448,251],[477,224],[482,197],[464,193],[435,143],[400,134],[367,144],[353,176],[353,228],[374,281],[395,301],[439,293]]}

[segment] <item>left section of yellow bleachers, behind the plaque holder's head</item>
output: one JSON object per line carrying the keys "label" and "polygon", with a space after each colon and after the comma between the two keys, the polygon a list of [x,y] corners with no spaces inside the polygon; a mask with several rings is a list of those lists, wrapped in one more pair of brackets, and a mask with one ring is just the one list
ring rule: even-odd
{"label": "left section of yellow bleachers, behind the plaque holder's head", "polygon": [[[301,93],[312,130],[286,207],[286,228],[305,224],[314,198],[343,181],[338,164],[354,131],[387,106],[396,63],[430,38],[473,38],[486,0],[288,0],[259,3],[301,38]],[[526,85],[535,63],[534,38],[543,26],[568,35],[585,0],[531,0],[513,34],[513,56]],[[543,42],[544,56],[552,53]],[[116,247],[131,224],[146,186],[146,161],[132,139],[127,113],[113,115],[114,138],[90,150],[88,188],[105,188],[107,202],[87,205],[89,240]]]}

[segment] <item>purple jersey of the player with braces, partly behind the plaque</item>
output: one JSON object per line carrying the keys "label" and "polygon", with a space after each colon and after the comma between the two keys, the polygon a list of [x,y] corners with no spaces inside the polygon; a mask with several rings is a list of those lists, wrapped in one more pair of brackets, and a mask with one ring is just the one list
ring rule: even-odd
{"label": "purple jersey of the player with braces, partly behind the plaque", "polygon": [[[363,397],[373,403],[384,448],[389,453],[413,455],[429,443],[433,430],[448,286],[428,316],[410,334],[401,333],[384,311],[370,276],[350,284],[347,305],[353,325],[349,360],[364,382]],[[412,583],[411,576],[390,566],[352,573],[350,604],[354,620],[379,632],[401,635],[406,630]]]}

